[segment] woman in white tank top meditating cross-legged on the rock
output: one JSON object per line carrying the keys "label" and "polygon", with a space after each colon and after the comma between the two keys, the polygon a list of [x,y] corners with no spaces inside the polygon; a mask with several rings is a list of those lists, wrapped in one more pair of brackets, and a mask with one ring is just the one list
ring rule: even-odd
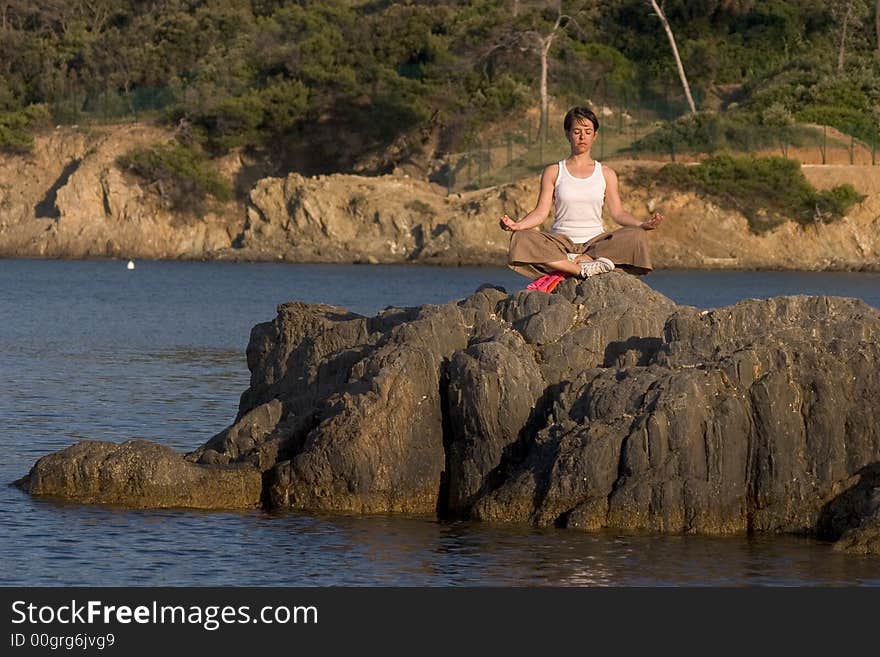
{"label": "woman in white tank top meditating cross-legged on the rock", "polygon": [[[541,191],[535,209],[519,221],[507,215],[501,227],[513,231],[507,262],[514,271],[539,278],[561,273],[588,278],[615,268],[632,274],[651,271],[651,257],[645,231],[663,221],[655,212],[639,221],[620,202],[617,174],[590,155],[599,120],[586,107],[573,107],[563,121],[571,155],[551,164],[541,176]],[[602,206],[622,228],[605,232]],[[552,205],[556,207],[551,232],[536,228],[544,223]]]}

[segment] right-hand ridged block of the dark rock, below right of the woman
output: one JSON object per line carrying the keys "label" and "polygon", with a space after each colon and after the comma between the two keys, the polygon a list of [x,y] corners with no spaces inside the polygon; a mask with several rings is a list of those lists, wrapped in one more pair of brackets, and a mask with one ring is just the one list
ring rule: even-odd
{"label": "right-hand ridged block of the dark rock, below right of the woman", "polygon": [[[816,532],[880,457],[880,313],[848,299],[685,309],[645,366],[585,372],[478,518]],[[839,535],[839,534],[838,534]]]}

